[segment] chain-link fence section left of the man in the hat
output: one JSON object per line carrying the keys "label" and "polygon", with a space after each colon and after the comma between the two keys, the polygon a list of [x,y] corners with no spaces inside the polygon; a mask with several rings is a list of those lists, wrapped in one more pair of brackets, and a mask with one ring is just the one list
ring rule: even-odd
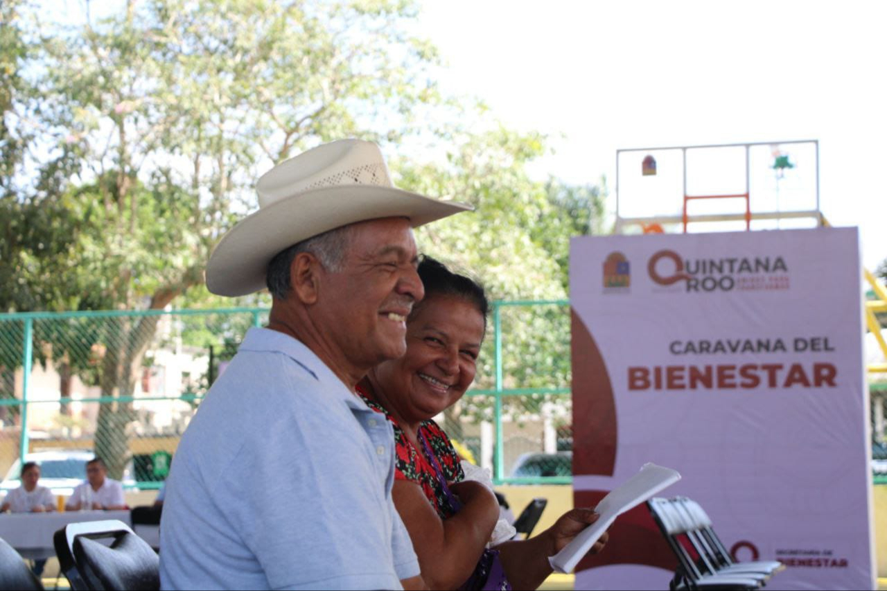
{"label": "chain-link fence section left of the man in the hat", "polygon": [[0,315],[0,474],[18,477],[27,450],[29,459],[56,467],[59,479],[66,470],[74,479],[89,453],[130,488],[160,487],[209,384],[247,328],[267,315],[241,309]]}

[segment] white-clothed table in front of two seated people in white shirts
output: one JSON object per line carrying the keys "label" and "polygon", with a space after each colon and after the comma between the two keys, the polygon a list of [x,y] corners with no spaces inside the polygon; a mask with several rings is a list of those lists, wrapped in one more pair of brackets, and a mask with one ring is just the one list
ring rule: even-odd
{"label": "white-clothed table in front of two seated people in white shirts", "polygon": [[[67,524],[117,519],[131,526],[130,511],[65,511],[63,513],[5,513],[0,515],[0,538],[25,558],[55,556],[52,535]],[[159,527],[139,525],[135,532],[153,548],[159,545]]]}

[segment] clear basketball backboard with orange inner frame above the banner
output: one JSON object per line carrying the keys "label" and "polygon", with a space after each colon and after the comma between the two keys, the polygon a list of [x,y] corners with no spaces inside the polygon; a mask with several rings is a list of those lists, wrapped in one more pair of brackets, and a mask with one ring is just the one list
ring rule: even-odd
{"label": "clear basketball backboard with orange inner frame above the banner", "polygon": [[819,142],[616,150],[616,232],[820,225]]}

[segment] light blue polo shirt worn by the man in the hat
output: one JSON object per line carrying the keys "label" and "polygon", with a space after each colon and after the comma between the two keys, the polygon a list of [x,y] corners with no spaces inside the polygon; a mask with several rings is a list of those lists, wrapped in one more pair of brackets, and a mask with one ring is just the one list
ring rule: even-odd
{"label": "light blue polo shirt worn by the man in the hat", "polygon": [[178,445],[164,589],[399,589],[394,435],[305,345],[251,328]]}

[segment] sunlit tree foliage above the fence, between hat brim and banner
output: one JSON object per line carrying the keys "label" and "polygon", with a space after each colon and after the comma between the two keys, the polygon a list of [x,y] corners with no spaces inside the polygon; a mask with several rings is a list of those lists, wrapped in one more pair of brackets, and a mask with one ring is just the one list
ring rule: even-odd
{"label": "sunlit tree foliage above the fence, between hat brim and banner", "polygon": [[565,297],[556,261],[533,235],[553,210],[545,185],[526,169],[544,152],[542,136],[498,128],[451,138],[440,161],[404,162],[405,187],[475,206],[473,214],[421,228],[421,248],[476,272],[495,299]]}

